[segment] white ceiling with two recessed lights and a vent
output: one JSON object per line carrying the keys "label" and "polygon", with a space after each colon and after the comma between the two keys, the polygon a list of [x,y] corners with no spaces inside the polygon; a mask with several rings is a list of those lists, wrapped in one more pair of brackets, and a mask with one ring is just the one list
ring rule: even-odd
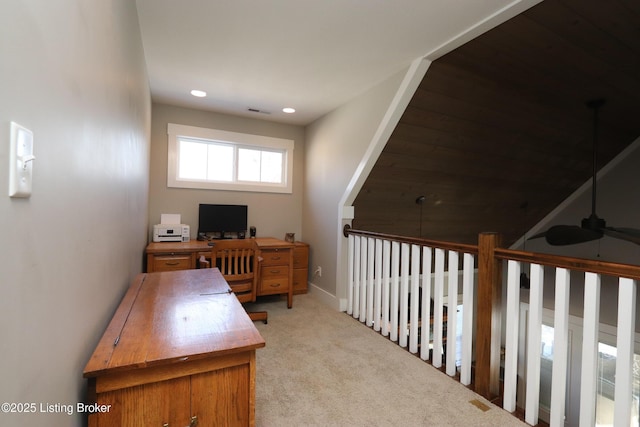
{"label": "white ceiling with two recessed lights and a vent", "polygon": [[306,125],[416,58],[434,58],[479,22],[507,19],[495,15],[512,3],[521,2],[137,0],[137,7],[154,101]]}

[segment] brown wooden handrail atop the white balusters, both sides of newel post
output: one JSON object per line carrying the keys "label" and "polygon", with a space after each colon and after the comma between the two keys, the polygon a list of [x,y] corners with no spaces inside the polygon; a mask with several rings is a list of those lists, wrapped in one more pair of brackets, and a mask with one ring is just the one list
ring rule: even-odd
{"label": "brown wooden handrail atop the white balusters, both sides of newel post", "polygon": [[[374,237],[391,240],[400,243],[418,244],[432,248],[453,250],[477,255],[478,246],[465,243],[444,242],[439,240],[423,239],[419,237],[399,236],[395,234],[378,233],[375,231],[356,230],[349,225],[343,229],[345,237],[350,234],[356,236]],[[513,249],[496,248],[494,256],[500,260],[513,260],[530,264],[540,264],[549,267],[560,267],[568,270],[591,272],[606,276],[626,277],[640,280],[640,265],[622,264],[610,261],[598,261],[586,258],[575,258],[562,255],[543,254],[538,252],[525,252]]]}

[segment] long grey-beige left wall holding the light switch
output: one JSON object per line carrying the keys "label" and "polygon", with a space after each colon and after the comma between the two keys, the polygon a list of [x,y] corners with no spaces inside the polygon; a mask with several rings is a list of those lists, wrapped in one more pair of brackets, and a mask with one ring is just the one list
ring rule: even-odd
{"label": "long grey-beige left wall holding the light switch", "polygon": [[[0,14],[0,402],[85,399],[84,366],[146,244],[150,96],[135,2],[8,0]],[[8,197],[9,122],[34,132]],[[0,425],[81,425],[77,413]]]}

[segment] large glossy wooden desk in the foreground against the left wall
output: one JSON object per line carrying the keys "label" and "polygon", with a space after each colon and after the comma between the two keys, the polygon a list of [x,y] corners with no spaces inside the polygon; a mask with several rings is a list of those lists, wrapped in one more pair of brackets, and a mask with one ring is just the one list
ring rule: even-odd
{"label": "large glossy wooden desk in the foreground against the left wall", "polygon": [[85,367],[89,426],[254,425],[264,345],[217,269],[140,274]]}

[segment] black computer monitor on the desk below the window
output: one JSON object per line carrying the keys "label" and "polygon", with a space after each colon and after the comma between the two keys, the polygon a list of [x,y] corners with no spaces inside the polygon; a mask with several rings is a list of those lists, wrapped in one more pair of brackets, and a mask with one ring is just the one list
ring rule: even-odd
{"label": "black computer monitor on the desk below the window", "polygon": [[200,204],[198,234],[237,233],[247,231],[246,205]]}

